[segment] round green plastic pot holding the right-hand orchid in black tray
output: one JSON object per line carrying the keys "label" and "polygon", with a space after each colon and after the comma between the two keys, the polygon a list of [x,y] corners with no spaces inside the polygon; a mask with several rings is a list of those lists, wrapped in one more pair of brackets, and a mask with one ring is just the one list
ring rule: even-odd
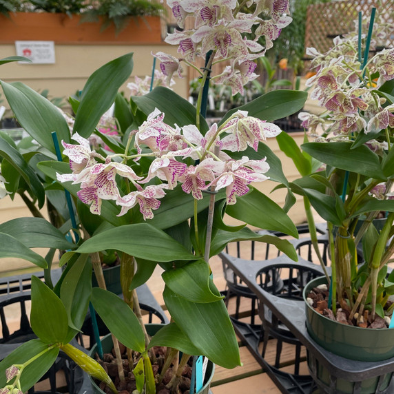
{"label": "round green plastic pot holding the right-hand orchid in black tray", "polygon": [[[394,357],[394,329],[363,329],[348,326],[320,315],[308,304],[309,291],[319,284],[326,283],[326,277],[322,276],[311,280],[304,287],[307,330],[311,338],[331,353],[349,359],[349,362],[350,360],[379,362]],[[314,375],[318,379],[318,384],[328,389],[331,384],[329,371],[309,352],[307,361],[310,371],[315,371]],[[379,377],[362,381],[360,394],[375,393],[378,384],[380,384],[380,393],[384,393],[392,377],[393,373],[387,373],[382,382],[379,382]],[[355,382],[338,379],[335,393],[351,394],[354,386]]]}

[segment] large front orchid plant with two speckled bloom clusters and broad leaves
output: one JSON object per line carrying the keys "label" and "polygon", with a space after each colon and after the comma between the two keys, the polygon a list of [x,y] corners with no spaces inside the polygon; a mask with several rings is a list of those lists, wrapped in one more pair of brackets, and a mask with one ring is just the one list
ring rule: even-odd
{"label": "large front orchid plant with two speckled bloom clusters and broad leaves", "polygon": [[[172,0],[168,4],[180,28],[189,16],[196,16],[195,25],[191,30],[176,30],[166,39],[178,45],[179,59],[163,52],[154,56],[167,85],[174,73],[181,76],[183,65],[196,68],[196,56],[207,59],[205,68],[197,69],[201,85],[196,107],[163,86],[129,100],[118,93],[132,72],[132,54],[96,70],[80,100],[70,99],[76,114],[72,134],[63,115],[45,98],[21,83],[1,83],[19,122],[48,156],[55,158],[56,145],[63,147],[64,163],[45,160],[37,168],[48,179],[48,189],[64,187],[73,196],[79,220],[73,229],[75,245],[61,258],[61,265],[67,264],[61,280],[52,289],[32,280],[31,324],[39,339],[23,344],[1,362],[2,394],[32,386],[59,349],[116,391],[101,366],[70,344],[89,301],[114,335],[116,354],[119,340],[133,350],[127,353],[130,366],[136,354],[140,357],[138,374],[142,371],[144,379],[138,392],[155,393],[163,378],[164,372],[154,376],[152,371],[149,354],[153,346],[183,352],[169,384],[172,392],[190,355],[205,355],[216,364],[234,368],[240,365],[238,344],[211,278],[209,258],[228,242],[244,239],[272,242],[297,258],[288,240],[256,234],[245,225],[298,236],[284,211],[289,206],[282,209],[251,184],[271,178],[289,186],[280,160],[264,141],[280,134],[271,122],[300,110],[307,94],[269,92],[227,112],[210,127],[203,116],[209,79],[229,85],[236,94],[256,78],[253,60],[265,52],[256,40],[265,37],[266,48],[272,45],[291,22],[286,14],[288,2],[247,1],[248,14],[240,12],[245,2],[236,0]],[[251,33],[252,27],[256,28],[255,40],[243,39],[242,34]],[[225,60],[229,66],[224,72],[211,75],[211,65]],[[113,103],[117,138],[100,132],[98,126]],[[92,149],[88,141],[92,133],[109,149]],[[12,154],[8,160],[17,157]],[[225,215],[244,224],[229,226]],[[105,290],[98,252],[106,249],[116,250],[121,257],[123,300]],[[172,322],[149,338],[141,324],[135,289],[157,265],[163,269],[163,297]],[[92,289],[92,267],[99,288]],[[174,351],[168,355],[174,358]],[[118,371],[122,380],[121,357]]]}

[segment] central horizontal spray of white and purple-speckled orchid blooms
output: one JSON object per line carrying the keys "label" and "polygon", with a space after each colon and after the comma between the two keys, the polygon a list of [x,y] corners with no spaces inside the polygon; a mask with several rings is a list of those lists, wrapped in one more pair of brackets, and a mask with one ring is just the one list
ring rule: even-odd
{"label": "central horizontal spray of white and purple-speckled orchid blooms", "polygon": [[[265,158],[250,160],[243,156],[234,160],[224,150],[240,152],[248,146],[257,150],[260,141],[281,132],[278,126],[238,111],[220,127],[216,123],[211,125],[203,136],[195,125],[170,127],[164,122],[164,116],[157,109],[149,114],[147,121],[130,134],[122,155],[104,157],[92,151],[89,141],[75,133],[72,138],[79,145],[62,142],[72,173],[57,174],[57,179],[80,184],[78,196],[90,205],[93,214],[101,214],[102,200],[114,200],[121,207],[118,216],[139,205],[145,220],[154,217],[153,211],[160,207],[165,189],[172,190],[178,183],[196,200],[202,199],[203,191],[211,187],[225,189],[227,204],[233,205],[236,196],[249,191],[250,183],[267,179],[263,175],[269,170]],[[133,137],[136,154],[129,155]],[[148,147],[149,152],[143,146]],[[121,163],[116,161],[119,156],[123,158]],[[141,157],[153,158],[145,178],[134,170]],[[185,158],[198,160],[198,164],[187,165],[182,161]],[[116,176],[128,180],[127,194],[118,189]]]}

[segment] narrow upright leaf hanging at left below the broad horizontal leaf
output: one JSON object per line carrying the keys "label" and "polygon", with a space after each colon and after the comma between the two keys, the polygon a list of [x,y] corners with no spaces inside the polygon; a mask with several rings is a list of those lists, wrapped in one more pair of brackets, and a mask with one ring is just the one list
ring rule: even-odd
{"label": "narrow upright leaf hanging at left below the broad horizontal leaf", "polygon": [[[87,262],[87,255],[80,256],[76,264],[63,278],[60,288],[60,298],[68,315],[68,325],[79,331],[85,321],[92,293],[92,264]],[[71,331],[70,342],[75,333]]]}

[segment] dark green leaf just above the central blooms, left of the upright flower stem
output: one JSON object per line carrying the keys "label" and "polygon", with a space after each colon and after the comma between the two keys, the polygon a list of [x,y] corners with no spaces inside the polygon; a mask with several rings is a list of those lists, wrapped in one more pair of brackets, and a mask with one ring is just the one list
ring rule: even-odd
{"label": "dark green leaf just above the central blooms, left of the upright flower stem", "polygon": [[[165,114],[164,122],[172,127],[175,123],[179,127],[196,124],[196,107],[167,87],[158,86],[144,96],[132,96],[132,101],[146,115],[158,108]],[[205,134],[209,127],[201,115],[200,125]]]}

